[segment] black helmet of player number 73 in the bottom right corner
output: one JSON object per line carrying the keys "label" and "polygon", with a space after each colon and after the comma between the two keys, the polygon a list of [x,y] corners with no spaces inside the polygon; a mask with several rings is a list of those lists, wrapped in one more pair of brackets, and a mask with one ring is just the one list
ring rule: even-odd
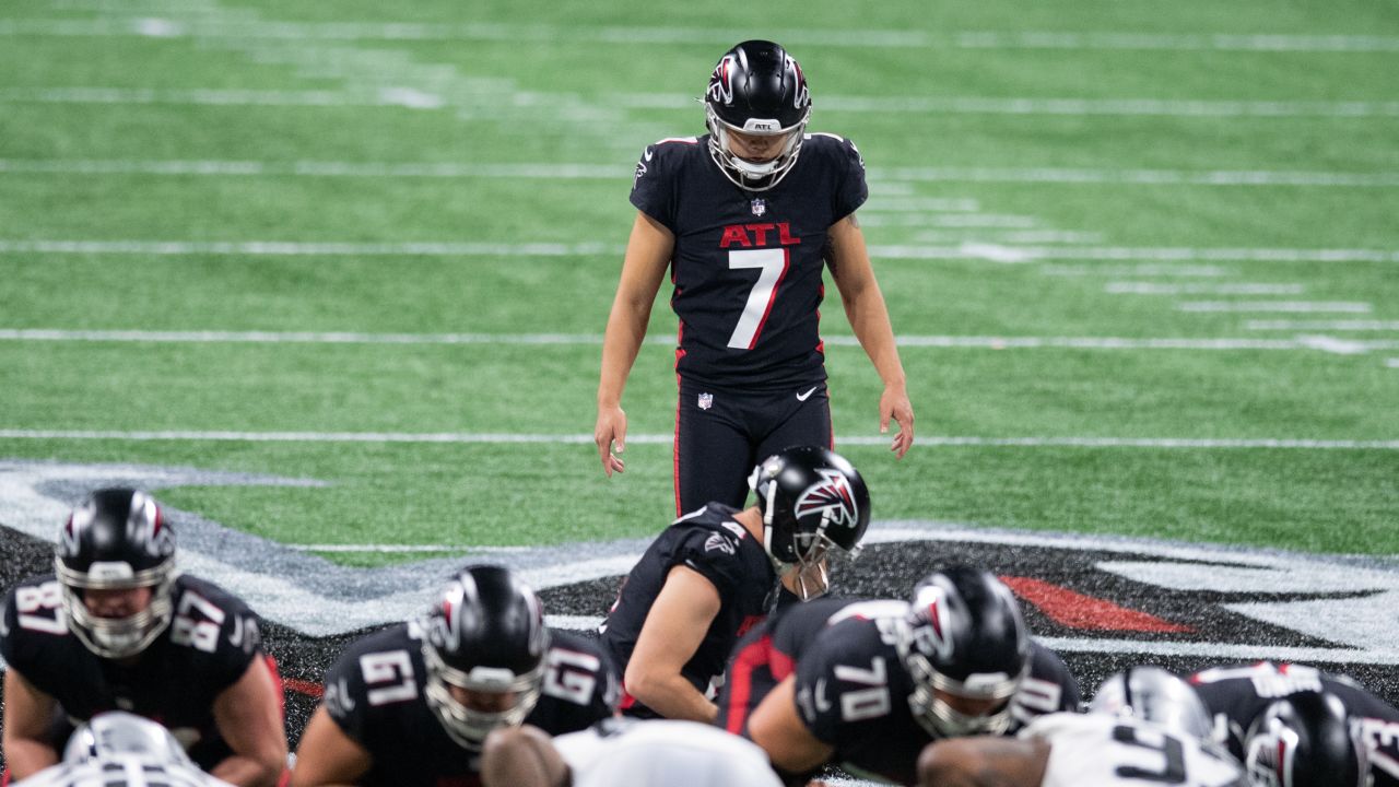
{"label": "black helmet of player number 73 in the bottom right corner", "polygon": [[1255,787],[1368,787],[1370,756],[1330,692],[1297,692],[1263,709],[1244,737]]}

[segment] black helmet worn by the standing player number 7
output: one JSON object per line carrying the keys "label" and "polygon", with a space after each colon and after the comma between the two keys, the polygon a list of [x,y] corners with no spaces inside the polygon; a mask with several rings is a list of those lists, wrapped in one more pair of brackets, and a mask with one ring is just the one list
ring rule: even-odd
{"label": "black helmet worn by the standing player number 7", "polygon": [[[778,185],[802,153],[811,94],[796,59],[771,41],[744,41],[723,53],[705,91],[709,157],[734,185],[761,192]],[[729,133],[782,136],[771,161],[734,155]]]}

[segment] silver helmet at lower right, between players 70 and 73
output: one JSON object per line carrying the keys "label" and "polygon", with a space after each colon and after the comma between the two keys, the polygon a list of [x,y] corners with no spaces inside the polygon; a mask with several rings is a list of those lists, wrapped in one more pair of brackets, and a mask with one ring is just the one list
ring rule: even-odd
{"label": "silver helmet at lower right, between players 70 and 73", "polygon": [[1088,710],[1140,718],[1199,741],[1214,739],[1210,711],[1195,686],[1161,667],[1129,667],[1109,675]]}

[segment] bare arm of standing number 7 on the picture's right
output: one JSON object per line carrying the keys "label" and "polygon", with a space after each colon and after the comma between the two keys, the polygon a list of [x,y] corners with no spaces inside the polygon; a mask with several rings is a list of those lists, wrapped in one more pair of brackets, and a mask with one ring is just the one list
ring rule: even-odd
{"label": "bare arm of standing number 7 on the picture's right", "polygon": [[860,231],[855,214],[832,224],[827,231],[827,267],[841,291],[841,304],[851,321],[851,329],[855,330],[855,337],[884,381],[884,392],[879,399],[880,431],[888,431],[890,420],[898,423],[898,434],[890,443],[890,451],[904,458],[914,444],[914,405],[908,399],[908,382],[894,342],[894,328],[888,321],[884,294],[874,279],[865,232]]}

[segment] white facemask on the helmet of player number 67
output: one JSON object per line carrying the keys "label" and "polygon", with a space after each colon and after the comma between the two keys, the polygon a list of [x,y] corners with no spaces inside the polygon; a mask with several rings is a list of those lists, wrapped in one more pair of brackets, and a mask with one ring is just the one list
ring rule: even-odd
{"label": "white facemask on the helmet of player number 67", "polygon": [[[516,675],[504,667],[476,667],[470,672],[452,668],[436,648],[422,646],[427,664],[424,695],[446,734],[466,749],[480,751],[485,737],[499,727],[519,727],[534,710],[544,682],[544,662]],[[513,693],[515,700],[501,711],[476,710],[457,700],[450,686],[481,693]]]}

